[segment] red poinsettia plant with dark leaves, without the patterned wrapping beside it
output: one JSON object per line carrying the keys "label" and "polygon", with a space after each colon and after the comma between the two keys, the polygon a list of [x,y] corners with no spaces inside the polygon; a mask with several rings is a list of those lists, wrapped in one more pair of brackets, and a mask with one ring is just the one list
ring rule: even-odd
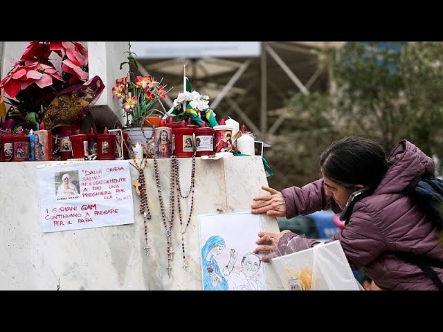
{"label": "red poinsettia plant with dark leaves, without the patterned wrapping beside it", "polygon": [[[61,58],[60,70],[53,54]],[[55,96],[74,84],[88,80],[88,53],[79,42],[30,42],[18,62],[0,82],[10,105],[6,120],[15,131],[37,129],[37,124]],[[10,124],[11,122],[8,122]]]}

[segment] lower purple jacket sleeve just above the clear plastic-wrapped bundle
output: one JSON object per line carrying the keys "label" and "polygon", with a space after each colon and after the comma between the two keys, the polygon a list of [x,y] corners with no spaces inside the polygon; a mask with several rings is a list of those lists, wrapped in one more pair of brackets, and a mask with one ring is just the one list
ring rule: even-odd
{"label": "lower purple jacket sleeve just above the clear plastic-wrapped bundle", "polygon": [[345,229],[325,243],[335,240],[340,241],[352,270],[362,268],[388,250],[385,237],[374,223],[370,209],[362,202],[354,206]]}

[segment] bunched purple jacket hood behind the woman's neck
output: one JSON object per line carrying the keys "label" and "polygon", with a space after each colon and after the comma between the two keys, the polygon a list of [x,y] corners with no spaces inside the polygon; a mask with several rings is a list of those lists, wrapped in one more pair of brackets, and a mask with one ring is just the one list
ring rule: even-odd
{"label": "bunched purple jacket hood behind the woman's neck", "polygon": [[431,157],[408,140],[401,140],[388,157],[388,172],[374,194],[395,194],[402,192],[413,178],[433,175],[435,165]]}

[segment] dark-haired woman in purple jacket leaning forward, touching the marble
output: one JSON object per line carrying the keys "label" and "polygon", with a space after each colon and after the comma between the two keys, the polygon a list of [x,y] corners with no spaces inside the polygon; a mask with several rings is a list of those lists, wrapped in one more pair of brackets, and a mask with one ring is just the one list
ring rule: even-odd
{"label": "dark-haired woman in purple jacket leaning forward, touching the marble", "polygon": [[[404,194],[417,176],[434,173],[432,158],[413,143],[401,140],[388,159],[383,148],[366,138],[338,140],[320,155],[322,178],[303,187],[289,187],[257,196],[253,214],[268,216],[310,214],[319,210],[342,212],[350,196],[363,188],[353,208],[348,208],[344,230],[326,242],[339,240],[352,270],[365,268],[375,284],[385,290],[436,290],[415,264],[399,259],[396,252],[443,261],[439,230],[412,197]],[[364,190],[363,190],[364,191]],[[298,234],[259,232],[255,252],[278,250],[281,255],[305,250],[319,242]],[[275,247],[276,246],[276,247]],[[263,257],[269,261],[272,254]],[[440,279],[443,269],[435,268]]]}

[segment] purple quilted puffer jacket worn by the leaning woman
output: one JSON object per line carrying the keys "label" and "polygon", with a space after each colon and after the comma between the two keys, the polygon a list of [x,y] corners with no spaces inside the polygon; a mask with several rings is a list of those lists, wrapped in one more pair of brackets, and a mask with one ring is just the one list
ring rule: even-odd
{"label": "purple quilted puffer jacket worn by the leaning woman", "polygon": [[[392,255],[403,251],[443,260],[439,231],[413,200],[402,194],[416,176],[433,174],[433,160],[407,140],[399,142],[388,160],[391,166],[374,194],[356,202],[346,228],[326,242],[339,240],[352,270],[364,267],[382,289],[437,290],[417,266]],[[282,194],[288,219],[319,210],[341,212],[332,197],[325,195],[321,179],[301,188],[286,188]],[[278,248],[286,255],[316,244],[316,240],[287,233]],[[443,280],[443,270],[433,269]]]}

